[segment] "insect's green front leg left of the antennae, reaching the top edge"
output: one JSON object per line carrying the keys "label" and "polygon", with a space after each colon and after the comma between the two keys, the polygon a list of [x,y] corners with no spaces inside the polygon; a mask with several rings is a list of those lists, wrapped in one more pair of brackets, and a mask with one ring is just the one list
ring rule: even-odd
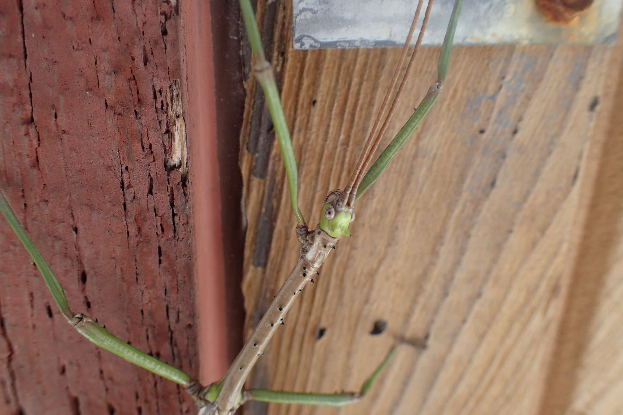
{"label": "insect's green front leg left of the antennae, reaching the top edge", "polygon": [[[285,164],[285,174],[288,177],[288,188],[290,189],[290,203],[292,203],[292,210],[297,217],[298,225],[305,225],[305,218],[298,208],[298,172],[297,172],[297,160],[294,157],[294,151],[292,150],[292,140],[290,139],[290,131],[288,131],[288,124],[285,121],[285,115],[283,115],[283,108],[281,106],[281,100],[279,98],[279,90],[277,89],[277,83],[275,83],[275,77],[273,76],[270,63],[264,56],[264,49],[262,48],[262,38],[260,32],[257,29],[257,22],[255,22],[255,14],[253,7],[249,0],[240,0],[240,9],[242,10],[242,19],[244,19],[244,26],[249,36],[249,44],[251,45],[253,59],[255,61],[253,70],[255,77],[264,90],[266,96],[266,102],[269,106],[270,118],[272,118],[273,125],[275,126],[275,133],[277,134],[277,141],[281,148],[281,154],[283,156],[283,164]],[[306,231],[307,232],[307,231]]]}

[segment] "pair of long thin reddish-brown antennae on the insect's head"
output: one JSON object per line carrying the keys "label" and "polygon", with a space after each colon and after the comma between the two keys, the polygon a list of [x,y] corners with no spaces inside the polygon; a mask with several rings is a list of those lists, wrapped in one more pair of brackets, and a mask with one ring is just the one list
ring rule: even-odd
{"label": "pair of long thin reddish-brown antennae on the insect's head", "polygon": [[402,81],[400,83],[400,86],[398,87],[398,90],[396,91],[396,95],[394,96],[394,100],[392,101],[391,107],[389,108],[389,112],[385,117],[383,126],[381,126],[381,131],[379,131],[377,134],[378,126],[381,123],[381,117],[383,116],[383,113],[385,112],[387,108],[389,96],[394,91],[394,86],[396,86],[398,75],[400,74],[400,70],[402,68],[402,63],[404,63],[404,58],[407,55],[407,50],[409,50],[409,44],[411,44],[411,38],[416,28],[417,19],[419,19],[420,11],[422,9],[422,3],[424,2],[424,0],[419,0],[417,2],[416,13],[414,14],[413,21],[411,22],[409,35],[407,35],[407,39],[404,42],[404,46],[402,47],[402,54],[396,65],[396,70],[394,70],[394,76],[392,77],[391,83],[389,84],[388,91],[386,92],[385,98],[383,100],[383,105],[381,105],[381,109],[379,110],[379,114],[376,117],[376,121],[374,121],[374,126],[372,130],[370,131],[368,140],[366,141],[366,145],[364,146],[364,149],[361,152],[361,156],[359,156],[359,160],[353,170],[353,174],[351,174],[351,178],[348,182],[348,185],[346,186],[346,188],[344,189],[344,192],[340,196],[341,205],[345,205],[348,207],[353,207],[354,205],[354,202],[357,198],[357,189],[359,187],[359,184],[361,184],[361,180],[363,180],[364,172],[368,168],[368,164],[372,160],[372,156],[374,155],[374,152],[379,146],[379,142],[381,142],[381,139],[383,139],[383,134],[385,133],[385,130],[387,129],[389,125],[389,121],[394,115],[394,111],[396,110],[396,105],[402,95],[402,90],[404,90],[404,86],[406,85],[407,80],[409,79],[409,75],[411,73],[411,67],[413,66],[413,63],[415,61],[417,50],[422,44],[422,37],[424,36],[424,32],[426,31],[426,25],[428,23],[428,19],[430,16],[430,9],[432,8],[433,1],[434,0],[429,0],[427,2],[426,11],[424,12],[424,20],[422,21],[420,32],[417,35],[417,41],[416,41],[416,45],[413,48],[413,53],[411,54],[411,58],[409,58],[409,64],[407,65],[407,69],[405,70],[404,75],[402,75]]}

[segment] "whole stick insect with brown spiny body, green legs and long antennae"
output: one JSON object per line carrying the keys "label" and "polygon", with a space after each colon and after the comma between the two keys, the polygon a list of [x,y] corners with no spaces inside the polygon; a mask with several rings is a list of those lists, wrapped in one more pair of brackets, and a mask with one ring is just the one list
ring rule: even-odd
{"label": "whole stick insect with brown spiny body, green legs and long antennae", "polygon": [[401,131],[366,172],[366,169],[368,169],[368,166],[372,162],[374,152],[383,138],[384,131],[388,127],[389,119],[391,119],[394,113],[396,103],[401,96],[402,89],[409,76],[409,70],[416,57],[417,48],[421,44],[422,35],[424,34],[424,30],[426,30],[426,23],[430,14],[432,0],[427,2],[426,10],[424,11],[424,21],[417,38],[416,47],[411,55],[406,73],[397,89],[385,121],[381,124],[384,111],[388,106],[392,91],[396,85],[399,70],[406,58],[408,45],[411,42],[416,22],[422,11],[422,5],[423,0],[419,0],[406,45],[396,68],[396,73],[384,99],[381,111],[379,111],[379,116],[374,122],[373,129],[359,157],[359,161],[354,167],[353,174],[351,174],[351,178],[344,190],[332,190],[326,195],[321,206],[320,224],[316,228],[310,230],[298,207],[297,165],[293,156],[292,143],[290,142],[283,110],[280,106],[279,93],[273,79],[272,69],[270,68],[269,62],[267,62],[264,57],[252,6],[249,0],[240,0],[245,28],[249,35],[249,41],[253,51],[254,73],[267,98],[269,110],[273,118],[273,123],[275,124],[277,139],[283,154],[287,171],[288,188],[290,190],[290,201],[297,219],[295,231],[302,248],[300,250],[300,258],[283,284],[282,289],[280,289],[275,296],[274,301],[267,312],[265,312],[264,317],[260,320],[255,332],[247,340],[239,356],[235,359],[226,375],[220,381],[208,386],[202,386],[198,381],[194,380],[183,371],[167,365],[155,357],[140,352],[136,348],[119,340],[117,337],[114,337],[103,327],[100,327],[97,321],[93,320],[91,317],[82,313],[74,314],[72,310],[70,310],[69,303],[58,279],[54,276],[54,273],[52,273],[45,259],[42,258],[34,243],[23,230],[17,217],[9,207],[9,203],[4,196],[0,195],[0,210],[9,222],[12,230],[14,230],[19,240],[31,255],[37,268],[39,268],[42,277],[44,277],[45,284],[49,287],[55,304],[67,322],[83,336],[87,337],[88,340],[95,343],[95,345],[105,348],[105,350],[115,353],[156,375],[163,376],[168,380],[184,386],[186,391],[196,400],[200,408],[199,414],[230,414],[239,408],[240,405],[250,400],[289,404],[340,406],[357,402],[366,396],[376,378],[378,378],[384,368],[389,364],[389,361],[391,361],[394,349],[381,361],[378,368],[374,370],[368,380],[364,381],[358,392],[315,394],[270,391],[265,389],[243,391],[242,388],[247,376],[249,376],[250,370],[252,370],[255,362],[264,352],[270,338],[278,327],[283,324],[283,317],[288,309],[290,309],[293,301],[298,298],[297,295],[302,292],[303,287],[305,287],[308,282],[314,282],[313,277],[319,274],[318,269],[320,269],[332,249],[335,248],[341,236],[350,236],[349,225],[351,221],[354,220],[354,207],[358,198],[369,189],[376,179],[378,179],[384,168],[388,166],[389,161],[391,161],[392,157],[400,149],[402,144],[404,144],[406,139],[409,138],[414,129],[417,128],[417,125],[422,121],[424,116],[426,116],[427,112],[432,108],[432,105],[434,105],[439,97],[449,66],[450,50],[452,48],[455,27],[462,6],[461,0],[455,2],[452,16],[450,17],[444,44],[440,52],[437,81],[430,86],[429,91],[416,108],[411,118],[409,118]]}

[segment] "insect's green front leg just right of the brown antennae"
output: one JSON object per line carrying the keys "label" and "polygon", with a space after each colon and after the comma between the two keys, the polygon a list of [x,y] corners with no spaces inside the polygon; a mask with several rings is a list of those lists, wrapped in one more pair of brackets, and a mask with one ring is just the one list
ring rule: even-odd
{"label": "insect's green front leg just right of the brown antennae", "polygon": [[357,199],[359,199],[359,197],[361,197],[361,195],[363,195],[364,192],[368,190],[374,182],[376,182],[376,179],[379,178],[379,175],[381,175],[385,167],[388,166],[389,161],[391,161],[392,157],[396,155],[396,152],[398,152],[400,147],[402,147],[402,144],[404,144],[407,138],[411,136],[430,108],[432,108],[435,101],[437,101],[437,98],[439,98],[441,88],[444,86],[445,75],[448,73],[450,52],[452,52],[452,42],[454,42],[454,32],[457,29],[457,22],[459,21],[459,14],[462,6],[463,0],[456,0],[454,2],[454,9],[452,9],[448,29],[445,32],[444,44],[442,45],[441,52],[439,54],[439,63],[437,64],[437,82],[430,86],[424,100],[422,100],[420,105],[416,108],[416,111],[413,113],[411,118],[409,118],[407,123],[404,124],[398,134],[396,134],[396,137],[392,139],[386,149],[384,149],[378,159],[376,159],[372,167],[370,167],[368,172],[366,172],[366,175],[363,180],[361,180],[361,184],[359,185]]}

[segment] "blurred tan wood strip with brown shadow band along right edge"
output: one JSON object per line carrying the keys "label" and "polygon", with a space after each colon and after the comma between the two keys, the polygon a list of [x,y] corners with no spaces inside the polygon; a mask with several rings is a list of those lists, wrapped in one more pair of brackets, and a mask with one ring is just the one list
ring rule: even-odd
{"label": "blurred tan wood strip with brown shadow band along right edge", "polygon": [[569,238],[566,304],[546,373],[541,414],[623,412],[623,34],[585,162],[578,226]]}

